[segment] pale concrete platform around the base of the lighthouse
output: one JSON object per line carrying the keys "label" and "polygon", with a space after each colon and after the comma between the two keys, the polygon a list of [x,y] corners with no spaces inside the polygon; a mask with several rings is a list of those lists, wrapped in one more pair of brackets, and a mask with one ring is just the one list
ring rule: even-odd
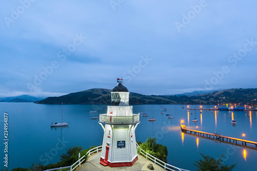
{"label": "pale concrete platform around the base of the lighthouse", "polygon": [[154,170],[158,170],[158,171],[164,171],[165,169],[163,169],[162,167],[158,166],[157,164],[154,164],[153,162],[151,162],[150,160],[146,160],[144,157],[142,157],[141,155],[138,155],[138,160],[134,163],[133,166],[130,167],[109,167],[109,166],[103,166],[100,164],[100,156],[101,153],[97,153],[95,155],[92,155],[88,158],[87,162],[84,163],[83,165],[81,165],[81,167],[79,167],[77,170],[78,171],[109,171],[109,170],[114,170],[114,171],[118,171],[118,170],[150,170],[147,168],[147,165],[149,163],[153,164],[154,166]]}

